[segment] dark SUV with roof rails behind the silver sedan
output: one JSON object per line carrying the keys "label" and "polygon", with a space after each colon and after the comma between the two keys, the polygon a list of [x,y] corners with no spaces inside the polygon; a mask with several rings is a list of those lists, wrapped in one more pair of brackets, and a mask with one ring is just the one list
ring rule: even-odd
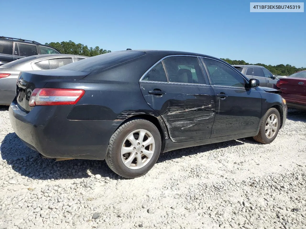
{"label": "dark SUV with roof rails behind the silver sedan", "polygon": [[0,37],[0,65],[37,54],[60,54],[60,52],[53,47],[35,41]]}

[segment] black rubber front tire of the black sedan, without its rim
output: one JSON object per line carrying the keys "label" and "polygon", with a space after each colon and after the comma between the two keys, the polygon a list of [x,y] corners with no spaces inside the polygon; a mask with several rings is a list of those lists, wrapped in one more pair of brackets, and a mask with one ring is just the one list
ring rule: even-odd
{"label": "black rubber front tire of the black sedan, without its rim", "polygon": [[[276,115],[276,117],[278,119],[277,130],[276,130],[276,132],[275,132],[275,134],[272,138],[267,138],[266,133],[265,133],[265,126],[266,126],[266,123],[267,123],[267,119],[272,114]],[[275,109],[275,108],[270,108],[266,112],[266,114],[263,116],[263,119],[260,123],[259,132],[256,136],[253,137],[254,140],[257,141],[257,142],[263,143],[263,144],[269,144],[269,143],[273,142],[274,139],[276,138],[277,134],[278,134],[280,124],[281,124],[281,118],[280,118],[278,110]]]}

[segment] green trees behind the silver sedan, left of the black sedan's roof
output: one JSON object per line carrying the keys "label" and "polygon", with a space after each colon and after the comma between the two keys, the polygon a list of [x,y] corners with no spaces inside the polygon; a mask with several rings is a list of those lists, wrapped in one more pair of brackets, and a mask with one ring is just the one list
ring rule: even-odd
{"label": "green trees behind the silver sedan, left of the black sedan's roof", "polygon": [[81,56],[97,56],[104,53],[110,53],[110,50],[100,49],[99,46],[95,48],[88,48],[87,45],[83,45],[81,43],[74,43],[73,41],[62,41],[60,42],[50,42],[45,45],[52,46],[56,48],[60,53],[63,54],[73,54],[73,55],[81,55]]}

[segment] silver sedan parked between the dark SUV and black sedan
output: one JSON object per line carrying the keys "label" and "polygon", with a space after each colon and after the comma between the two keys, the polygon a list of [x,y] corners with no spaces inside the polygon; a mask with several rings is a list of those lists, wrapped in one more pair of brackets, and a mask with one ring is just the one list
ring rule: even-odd
{"label": "silver sedan parked between the dark SUV and black sedan", "polygon": [[44,54],[21,58],[0,66],[0,105],[10,105],[15,97],[21,71],[55,69],[88,58],[69,54]]}

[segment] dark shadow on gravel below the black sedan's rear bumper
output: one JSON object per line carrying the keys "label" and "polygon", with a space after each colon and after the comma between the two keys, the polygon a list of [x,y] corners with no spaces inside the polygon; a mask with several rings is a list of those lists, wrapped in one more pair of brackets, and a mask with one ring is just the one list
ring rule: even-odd
{"label": "dark shadow on gravel below the black sedan's rear bumper", "polygon": [[36,151],[24,145],[15,133],[5,136],[0,151],[2,159],[12,166],[11,169],[21,176],[33,179],[87,178],[90,177],[90,173],[118,179],[118,175],[108,168],[105,161],[73,159],[56,162],[52,159],[41,158]]}

